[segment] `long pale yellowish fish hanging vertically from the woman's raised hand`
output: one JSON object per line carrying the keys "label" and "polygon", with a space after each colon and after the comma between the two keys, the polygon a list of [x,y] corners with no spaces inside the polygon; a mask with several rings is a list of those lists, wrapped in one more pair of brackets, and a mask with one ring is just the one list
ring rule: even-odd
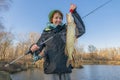
{"label": "long pale yellowish fish hanging vertically from the woman's raised hand", "polygon": [[67,61],[67,67],[71,64],[74,66],[74,44],[75,44],[75,28],[76,24],[74,23],[74,18],[71,13],[68,13],[66,15],[67,19],[67,33],[66,33],[66,48],[65,48],[65,54],[68,56],[68,61]]}

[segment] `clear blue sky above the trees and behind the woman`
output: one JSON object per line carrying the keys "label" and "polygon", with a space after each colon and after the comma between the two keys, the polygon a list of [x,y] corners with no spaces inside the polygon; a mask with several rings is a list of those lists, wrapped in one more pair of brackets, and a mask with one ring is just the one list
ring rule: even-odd
{"label": "clear blue sky above the trees and behind the woman", "polygon": [[[71,3],[77,5],[81,17],[108,0],[13,0],[10,10],[4,14],[4,24],[14,34],[41,33],[48,22],[48,14],[59,9],[65,15]],[[120,0],[112,0],[93,14],[83,19],[86,33],[79,44],[92,44],[97,48],[120,47]]]}

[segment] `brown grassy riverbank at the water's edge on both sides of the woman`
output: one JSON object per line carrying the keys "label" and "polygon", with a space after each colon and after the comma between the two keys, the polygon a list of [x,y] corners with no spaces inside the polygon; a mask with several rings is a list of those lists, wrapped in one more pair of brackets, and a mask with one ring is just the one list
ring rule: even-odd
{"label": "brown grassy riverbank at the water's edge on both sides of the woman", "polygon": [[[35,64],[32,64],[32,62],[31,63],[29,62],[29,64],[23,64],[21,62],[20,63],[17,62],[9,65],[8,67],[5,67],[7,63],[8,62],[0,61],[0,71],[6,71],[9,72],[10,74],[14,74],[20,71],[25,71],[30,68],[43,69],[42,68],[43,61],[41,60],[36,62]],[[83,68],[82,65],[120,65],[120,61],[81,60],[80,62],[78,62],[78,64],[75,64],[74,68],[81,69]]]}

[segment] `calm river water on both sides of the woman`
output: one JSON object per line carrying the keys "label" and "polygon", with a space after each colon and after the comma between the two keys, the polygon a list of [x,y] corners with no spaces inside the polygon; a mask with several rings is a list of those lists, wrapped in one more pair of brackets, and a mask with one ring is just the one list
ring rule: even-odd
{"label": "calm river water on both sides of the woman", "polygon": [[[118,65],[83,65],[82,69],[73,69],[72,80],[120,80]],[[12,74],[12,80],[44,80],[39,69]]]}

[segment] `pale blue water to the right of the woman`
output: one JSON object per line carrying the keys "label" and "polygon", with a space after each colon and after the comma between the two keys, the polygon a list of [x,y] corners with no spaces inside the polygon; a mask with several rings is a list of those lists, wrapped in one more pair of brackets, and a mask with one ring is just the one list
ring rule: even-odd
{"label": "pale blue water to the right of the woman", "polygon": [[120,66],[86,65],[76,80],[120,80]]}

